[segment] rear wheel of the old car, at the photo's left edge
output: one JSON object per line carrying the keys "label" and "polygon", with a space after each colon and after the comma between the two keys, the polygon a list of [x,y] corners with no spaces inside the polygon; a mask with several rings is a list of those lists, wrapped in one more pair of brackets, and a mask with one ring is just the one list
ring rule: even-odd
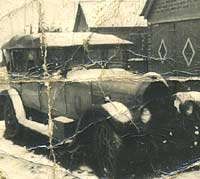
{"label": "rear wheel of the old car, at the photo's left edge", "polygon": [[17,121],[15,110],[10,98],[7,98],[4,105],[5,137],[15,139],[19,136],[20,125]]}

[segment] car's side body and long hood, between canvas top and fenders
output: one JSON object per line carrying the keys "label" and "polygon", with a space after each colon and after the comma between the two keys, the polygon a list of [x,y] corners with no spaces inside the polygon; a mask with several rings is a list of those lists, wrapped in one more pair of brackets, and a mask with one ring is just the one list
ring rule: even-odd
{"label": "car's side body and long hood, between canvas top and fenders", "polygon": [[162,80],[123,69],[74,70],[58,81],[48,79],[50,100],[45,79],[20,83],[13,81],[11,87],[19,91],[25,107],[48,114],[51,105],[53,116],[78,120],[92,106],[104,104],[105,97],[123,103],[128,108],[142,105],[145,103],[143,98],[148,87]]}

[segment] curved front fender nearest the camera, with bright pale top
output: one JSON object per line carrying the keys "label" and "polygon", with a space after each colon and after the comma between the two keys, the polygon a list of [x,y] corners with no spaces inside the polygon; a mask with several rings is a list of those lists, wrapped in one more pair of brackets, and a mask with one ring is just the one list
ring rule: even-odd
{"label": "curved front fender nearest the camera, with bright pale top", "polygon": [[94,106],[80,119],[76,132],[83,132],[91,126],[108,121],[119,135],[124,135],[130,130],[135,130],[131,111],[120,102],[109,102]]}

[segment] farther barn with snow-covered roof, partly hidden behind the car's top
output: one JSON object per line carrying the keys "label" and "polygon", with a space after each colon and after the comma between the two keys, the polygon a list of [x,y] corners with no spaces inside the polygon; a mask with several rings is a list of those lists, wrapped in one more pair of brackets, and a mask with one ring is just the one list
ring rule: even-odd
{"label": "farther barn with snow-covered roof, partly hidden behind the car's top", "polygon": [[[146,72],[147,21],[140,16],[146,0],[82,1],[78,4],[74,32],[112,34],[133,42],[133,53],[127,52],[128,69]],[[137,55],[137,54],[141,54]],[[129,60],[130,59],[130,60]]]}

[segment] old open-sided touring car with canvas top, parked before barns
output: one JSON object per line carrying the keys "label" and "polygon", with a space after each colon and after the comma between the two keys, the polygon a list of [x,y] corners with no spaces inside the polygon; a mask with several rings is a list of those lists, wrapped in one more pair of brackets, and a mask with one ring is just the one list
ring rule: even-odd
{"label": "old open-sided touring car with canvas top, parked before barns", "polygon": [[[81,138],[101,175],[117,172],[123,149],[133,153],[134,162],[166,151],[177,114],[166,80],[157,73],[122,69],[121,55],[115,63],[92,59],[90,64],[66,56],[69,46],[83,48],[85,36],[73,35],[71,45],[66,40],[70,35],[46,33],[44,46],[42,34],[37,34],[15,37],[2,47],[11,87],[0,95],[6,137],[19,137],[25,126],[71,146]],[[107,49],[114,42],[130,45],[103,37],[105,41],[95,34],[87,43],[97,49],[100,39]]]}

